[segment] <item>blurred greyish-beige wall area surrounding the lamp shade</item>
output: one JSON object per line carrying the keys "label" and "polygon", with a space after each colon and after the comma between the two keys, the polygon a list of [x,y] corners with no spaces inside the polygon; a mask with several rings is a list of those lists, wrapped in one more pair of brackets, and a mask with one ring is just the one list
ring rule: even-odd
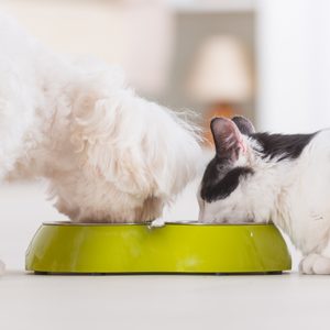
{"label": "blurred greyish-beige wall area surrounding the lamp shade", "polygon": [[[172,85],[164,101],[175,108],[193,107],[202,111],[204,105],[196,105],[185,90],[186,79],[194,63],[195,53],[208,36],[230,34],[242,40],[254,61],[254,15],[252,12],[178,13],[176,15],[175,57],[170,72]],[[254,102],[243,105],[243,112],[254,117]]]}

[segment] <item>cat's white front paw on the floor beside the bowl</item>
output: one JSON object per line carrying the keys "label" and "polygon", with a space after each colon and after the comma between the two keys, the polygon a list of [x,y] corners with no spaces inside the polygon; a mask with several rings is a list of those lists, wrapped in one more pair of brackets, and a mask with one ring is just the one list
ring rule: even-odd
{"label": "cat's white front paw on the floor beside the bowl", "polygon": [[316,253],[309,254],[301,260],[299,264],[299,271],[301,274],[307,275],[330,274],[330,258]]}

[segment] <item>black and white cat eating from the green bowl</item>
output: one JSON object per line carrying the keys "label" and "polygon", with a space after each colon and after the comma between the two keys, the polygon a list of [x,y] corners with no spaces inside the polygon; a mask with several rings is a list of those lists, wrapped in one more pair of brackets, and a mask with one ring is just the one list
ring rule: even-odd
{"label": "black and white cat eating from the green bowl", "polygon": [[216,156],[199,190],[199,221],[270,222],[302,252],[300,272],[330,274],[330,130],[255,133],[242,117],[211,121]]}

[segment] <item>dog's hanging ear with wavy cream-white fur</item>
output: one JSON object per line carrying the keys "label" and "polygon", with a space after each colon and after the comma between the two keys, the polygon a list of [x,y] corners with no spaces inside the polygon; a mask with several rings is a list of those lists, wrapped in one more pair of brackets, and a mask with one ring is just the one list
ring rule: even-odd
{"label": "dog's hanging ear with wavy cream-white fur", "polygon": [[[150,190],[150,175],[130,122],[120,101],[80,99],[75,105],[70,125],[72,143],[84,166],[105,180],[118,185],[121,191],[143,194]],[[131,116],[132,117],[132,116]],[[130,136],[130,134],[132,134]]]}

